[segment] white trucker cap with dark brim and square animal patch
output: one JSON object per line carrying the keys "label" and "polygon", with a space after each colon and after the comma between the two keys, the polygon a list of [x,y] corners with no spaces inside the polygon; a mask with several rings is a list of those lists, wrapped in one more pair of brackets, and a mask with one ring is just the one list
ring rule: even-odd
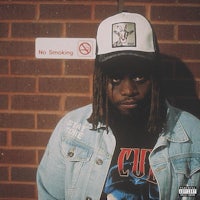
{"label": "white trucker cap with dark brim and square animal patch", "polygon": [[123,55],[154,59],[157,53],[151,24],[136,13],[122,12],[103,20],[96,39],[99,62]]}

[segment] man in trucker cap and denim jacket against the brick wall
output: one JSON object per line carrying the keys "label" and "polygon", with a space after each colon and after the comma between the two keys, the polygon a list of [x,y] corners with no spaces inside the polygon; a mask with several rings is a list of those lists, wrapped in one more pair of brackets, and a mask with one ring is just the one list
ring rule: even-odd
{"label": "man in trucker cap and denim jacket against the brick wall", "polygon": [[159,69],[143,16],[122,12],[99,25],[93,104],[56,126],[38,168],[39,199],[175,200],[186,186],[199,193],[200,121],[167,103]]}

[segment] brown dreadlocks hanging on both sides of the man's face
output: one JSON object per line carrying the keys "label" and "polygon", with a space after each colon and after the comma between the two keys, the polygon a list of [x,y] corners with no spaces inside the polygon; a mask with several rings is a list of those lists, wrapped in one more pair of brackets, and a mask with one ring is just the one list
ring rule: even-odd
{"label": "brown dreadlocks hanging on both sides of the man's face", "polygon": [[[157,65],[156,65],[157,66]],[[152,89],[150,114],[148,119],[148,132],[159,133],[166,122],[166,102],[160,90],[158,67],[154,67],[152,72]],[[98,125],[108,128],[109,106],[107,97],[107,85],[109,77],[104,73],[102,66],[96,61],[93,76],[93,112],[88,121],[92,123],[96,130]]]}

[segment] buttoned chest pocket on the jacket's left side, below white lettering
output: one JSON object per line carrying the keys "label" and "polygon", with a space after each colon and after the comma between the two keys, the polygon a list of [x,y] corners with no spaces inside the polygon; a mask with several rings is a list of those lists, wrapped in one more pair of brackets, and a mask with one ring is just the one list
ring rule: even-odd
{"label": "buttoned chest pocket on the jacket's left side, below white lettering", "polygon": [[61,152],[64,158],[71,162],[87,162],[93,154],[91,147],[76,140],[62,141]]}

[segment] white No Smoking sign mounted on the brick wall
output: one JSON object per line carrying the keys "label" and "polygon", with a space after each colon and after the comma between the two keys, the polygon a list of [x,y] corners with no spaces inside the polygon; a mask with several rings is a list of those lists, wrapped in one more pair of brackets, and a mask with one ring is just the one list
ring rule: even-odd
{"label": "white No Smoking sign mounted on the brick wall", "polygon": [[94,38],[36,38],[36,58],[49,59],[94,59]]}

